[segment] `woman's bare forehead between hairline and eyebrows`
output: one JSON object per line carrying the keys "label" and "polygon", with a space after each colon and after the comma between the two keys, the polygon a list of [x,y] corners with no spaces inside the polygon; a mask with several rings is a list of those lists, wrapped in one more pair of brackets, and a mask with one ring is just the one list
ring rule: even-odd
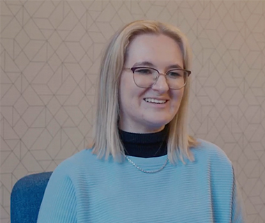
{"label": "woman's bare forehead between hairline and eyebrows", "polygon": [[183,56],[176,40],[163,34],[141,34],[128,46],[126,64],[149,61],[157,66],[179,64],[183,66]]}

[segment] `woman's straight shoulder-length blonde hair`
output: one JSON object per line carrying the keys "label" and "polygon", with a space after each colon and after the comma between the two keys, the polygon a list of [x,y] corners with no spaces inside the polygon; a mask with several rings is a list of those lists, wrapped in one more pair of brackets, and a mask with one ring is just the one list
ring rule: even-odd
{"label": "woman's straight shoulder-length blonde hair", "polygon": [[[184,34],[175,26],[157,21],[140,20],[131,22],[118,31],[110,41],[100,66],[98,100],[96,109],[93,153],[99,158],[109,155],[114,160],[124,157],[124,148],[119,137],[119,80],[126,61],[128,45],[133,38],[144,33],[163,34],[176,40],[183,54],[183,68],[190,69],[191,49]],[[167,154],[169,161],[184,162],[183,158],[193,160],[190,148],[197,141],[188,136],[188,95],[190,78],[184,87],[183,98],[176,116],[168,123]]]}

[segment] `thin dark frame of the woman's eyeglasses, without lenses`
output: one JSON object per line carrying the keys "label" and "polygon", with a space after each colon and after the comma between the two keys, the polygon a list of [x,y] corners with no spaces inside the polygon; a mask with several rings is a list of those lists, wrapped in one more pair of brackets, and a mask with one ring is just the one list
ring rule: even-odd
{"label": "thin dark frame of the woman's eyeglasses, without lenses", "polygon": [[[166,72],[165,74],[159,72],[159,70],[157,70],[156,68],[149,68],[149,67],[142,67],[142,66],[141,66],[141,67],[124,68],[124,69],[125,69],[125,70],[131,70],[131,71],[132,71],[132,73],[133,73],[133,81],[135,82],[135,70],[136,70],[136,69],[139,69],[139,68],[148,68],[148,69],[151,69],[151,70],[156,70],[156,72],[158,72],[158,76],[155,77],[156,82],[158,81],[158,77],[159,77],[160,75],[165,75],[165,78],[167,79],[167,73],[168,73],[168,72],[171,72],[172,70],[183,70],[183,72],[185,72],[185,73],[187,74],[187,77],[186,77],[186,79],[185,79],[185,84],[184,84],[183,86],[181,86],[181,88],[174,89],[174,88],[171,88],[171,87],[169,86],[169,84],[167,84],[167,85],[169,86],[169,89],[174,89],[174,90],[183,89],[183,87],[187,84],[188,77],[189,77],[190,74],[191,74],[191,71],[190,71],[190,70],[185,70],[185,69],[181,69],[181,68],[174,68],[174,69],[171,69],[171,70],[167,70],[167,72]],[[156,82],[154,82],[153,84],[156,84]],[[136,82],[135,82],[135,84],[136,84]],[[153,84],[152,84],[151,86],[153,86]],[[136,84],[136,86],[138,86],[139,88],[142,88],[142,89],[148,89],[148,88],[151,87],[151,86],[146,86],[146,87],[144,87],[144,86],[139,86],[139,85],[137,85],[137,84]]]}

